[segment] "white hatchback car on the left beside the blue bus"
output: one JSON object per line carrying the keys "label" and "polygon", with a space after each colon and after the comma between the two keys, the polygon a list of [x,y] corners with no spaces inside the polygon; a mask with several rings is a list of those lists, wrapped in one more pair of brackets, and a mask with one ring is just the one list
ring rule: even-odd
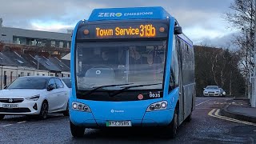
{"label": "white hatchback car on the left beside the blue bus", "polygon": [[0,90],[0,120],[5,115],[68,115],[70,89],[55,77],[28,76],[17,78],[6,90]]}

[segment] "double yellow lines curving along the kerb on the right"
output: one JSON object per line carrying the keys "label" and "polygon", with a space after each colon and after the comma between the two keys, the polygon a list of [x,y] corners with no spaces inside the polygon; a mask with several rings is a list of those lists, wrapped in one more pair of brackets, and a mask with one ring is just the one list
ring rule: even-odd
{"label": "double yellow lines curving along the kerb on the right", "polygon": [[[215,111],[215,113],[214,113]],[[238,122],[238,123],[242,123],[242,124],[245,124],[245,125],[250,125],[250,126],[256,126],[256,123],[252,123],[252,122],[245,122],[245,121],[240,121],[238,119],[234,119],[234,118],[228,118],[228,117],[224,117],[224,116],[221,116],[219,115],[220,109],[213,109],[213,110],[210,110],[210,112],[208,113],[209,116],[211,117],[214,117],[214,118],[220,118],[220,119],[224,119],[226,121],[230,121],[230,122]]]}

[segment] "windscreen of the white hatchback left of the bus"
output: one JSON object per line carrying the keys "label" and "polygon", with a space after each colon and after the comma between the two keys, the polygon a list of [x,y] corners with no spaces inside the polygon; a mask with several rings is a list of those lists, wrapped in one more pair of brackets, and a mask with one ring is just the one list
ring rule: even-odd
{"label": "windscreen of the white hatchback left of the bus", "polygon": [[7,89],[46,89],[46,78],[18,78]]}

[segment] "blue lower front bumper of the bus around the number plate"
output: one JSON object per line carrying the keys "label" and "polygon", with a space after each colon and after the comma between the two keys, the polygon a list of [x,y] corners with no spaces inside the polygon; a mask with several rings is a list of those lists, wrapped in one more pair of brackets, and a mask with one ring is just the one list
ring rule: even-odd
{"label": "blue lower front bumper of the bus around the number plate", "polygon": [[[170,124],[174,115],[174,109],[158,110],[146,112],[143,118],[138,119],[123,119],[123,121],[130,121],[131,126],[167,126]],[[95,119],[93,113],[82,112],[78,110],[70,110],[70,122],[76,126],[84,127],[106,127],[108,121],[115,121],[116,119]],[[120,121],[118,118],[116,121]]]}

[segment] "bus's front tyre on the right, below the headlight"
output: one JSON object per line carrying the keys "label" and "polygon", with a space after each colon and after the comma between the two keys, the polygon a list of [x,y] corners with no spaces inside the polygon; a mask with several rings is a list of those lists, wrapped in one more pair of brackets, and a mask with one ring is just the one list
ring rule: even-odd
{"label": "bus's front tyre on the right, below the headlight", "polygon": [[174,111],[174,118],[170,124],[166,127],[166,138],[175,138],[178,129],[178,111]]}

